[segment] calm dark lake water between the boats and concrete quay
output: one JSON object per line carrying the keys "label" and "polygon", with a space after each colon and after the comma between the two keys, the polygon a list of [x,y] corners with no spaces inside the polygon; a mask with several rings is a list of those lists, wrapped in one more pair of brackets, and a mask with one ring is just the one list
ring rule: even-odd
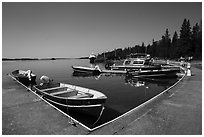
{"label": "calm dark lake water between the boats and concrete quay", "polygon": [[[86,59],[3,61],[2,77],[7,77],[6,74],[16,69],[30,69],[37,75],[37,84],[39,84],[39,78],[46,75],[54,79],[55,82],[78,85],[103,92],[108,99],[104,112],[100,119],[97,119],[97,123],[95,123],[95,118],[87,118],[87,116],[85,118],[81,114],[69,114],[89,128],[100,126],[128,112],[161,93],[178,80],[132,79],[125,75],[108,74],[99,76],[74,75],[71,68],[73,65],[90,66],[91,64]],[[99,63],[98,65],[104,69],[104,64]],[[9,86],[9,83],[4,83],[4,86]]]}

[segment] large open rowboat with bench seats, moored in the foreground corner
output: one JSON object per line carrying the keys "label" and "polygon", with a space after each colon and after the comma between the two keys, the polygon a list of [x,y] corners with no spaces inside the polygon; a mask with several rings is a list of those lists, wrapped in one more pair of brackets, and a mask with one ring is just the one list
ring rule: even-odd
{"label": "large open rowboat with bench seats, moored in the foreground corner", "polygon": [[86,115],[100,115],[107,97],[96,90],[64,83],[34,86],[35,92],[50,103]]}

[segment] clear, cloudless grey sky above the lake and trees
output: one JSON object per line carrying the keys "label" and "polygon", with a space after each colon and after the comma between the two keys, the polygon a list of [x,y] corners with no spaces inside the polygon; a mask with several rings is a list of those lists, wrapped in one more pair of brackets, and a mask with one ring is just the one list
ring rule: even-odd
{"label": "clear, cloudless grey sky above the lake and trees", "polygon": [[201,2],[3,2],[3,58],[75,58],[152,44],[184,19],[202,20]]}

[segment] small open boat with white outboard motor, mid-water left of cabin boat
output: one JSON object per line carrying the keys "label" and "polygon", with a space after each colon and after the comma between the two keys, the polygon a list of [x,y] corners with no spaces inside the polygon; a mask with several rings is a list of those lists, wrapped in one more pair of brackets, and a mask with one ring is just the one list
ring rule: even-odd
{"label": "small open boat with white outboard motor, mid-water left of cabin boat", "polygon": [[101,70],[99,69],[99,67],[82,67],[82,66],[72,66],[74,72],[78,72],[78,73],[90,73],[90,74],[100,74]]}

